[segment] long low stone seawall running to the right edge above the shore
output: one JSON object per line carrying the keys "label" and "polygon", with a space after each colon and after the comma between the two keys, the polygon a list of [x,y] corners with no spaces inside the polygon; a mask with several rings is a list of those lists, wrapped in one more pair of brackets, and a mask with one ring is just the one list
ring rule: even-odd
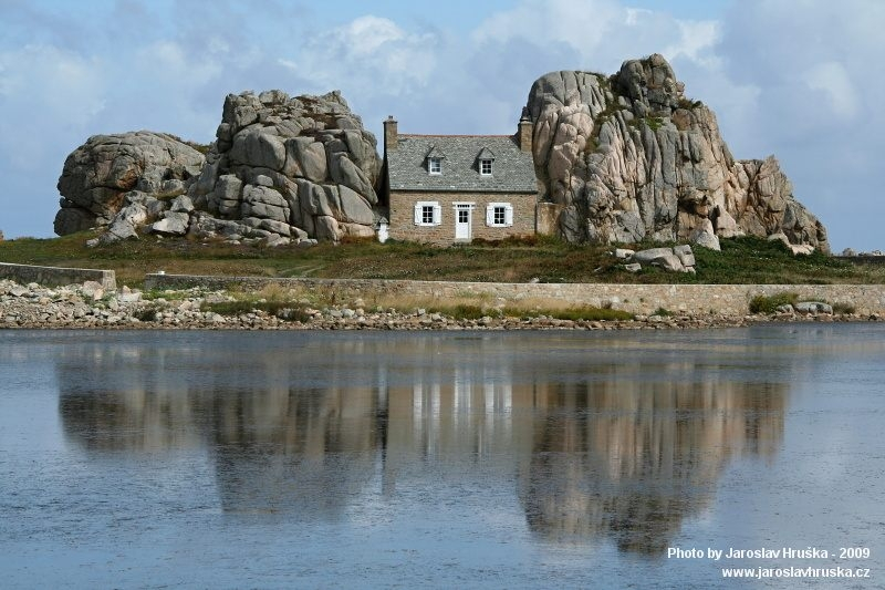
{"label": "long low stone seawall running to the right edge above the shore", "polygon": [[445,301],[454,298],[503,299],[507,303],[612,307],[650,314],[663,308],[697,314],[743,315],[756,296],[794,292],[803,301],[854,306],[860,314],[885,313],[885,284],[606,284],[493,283],[369,279],[272,279],[147,275],[145,289],[261,289],[268,284],[331,291],[340,299],[412,297]]}

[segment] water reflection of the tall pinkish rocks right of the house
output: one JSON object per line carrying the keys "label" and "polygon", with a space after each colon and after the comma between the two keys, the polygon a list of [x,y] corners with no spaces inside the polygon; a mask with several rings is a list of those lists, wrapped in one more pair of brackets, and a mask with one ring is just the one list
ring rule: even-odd
{"label": "water reflection of the tall pinkish rocks right of the house", "polygon": [[610,537],[658,553],[709,504],[730,458],[777,449],[784,402],[770,384],[556,386],[520,476],[529,526],[548,540]]}

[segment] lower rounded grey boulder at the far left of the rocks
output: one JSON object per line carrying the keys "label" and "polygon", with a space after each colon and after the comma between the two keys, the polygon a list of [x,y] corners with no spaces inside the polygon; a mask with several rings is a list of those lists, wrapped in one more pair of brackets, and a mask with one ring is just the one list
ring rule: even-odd
{"label": "lower rounded grey boulder at the far left of the rocks", "polygon": [[108,226],[132,190],[169,197],[184,194],[199,176],[205,159],[199,151],[164,133],[90,137],[64,162],[55,234]]}

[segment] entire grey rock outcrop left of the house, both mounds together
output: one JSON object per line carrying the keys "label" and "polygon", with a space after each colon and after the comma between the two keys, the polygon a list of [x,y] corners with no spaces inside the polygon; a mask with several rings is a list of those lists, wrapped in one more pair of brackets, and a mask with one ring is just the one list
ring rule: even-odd
{"label": "entire grey rock outcrop left of the house, both mounds together", "polygon": [[204,156],[173,136],[91,137],[59,180],[59,235],[102,226],[92,245],[139,232],[229,241],[337,241],[375,234],[375,137],[339,92],[225,100]]}

